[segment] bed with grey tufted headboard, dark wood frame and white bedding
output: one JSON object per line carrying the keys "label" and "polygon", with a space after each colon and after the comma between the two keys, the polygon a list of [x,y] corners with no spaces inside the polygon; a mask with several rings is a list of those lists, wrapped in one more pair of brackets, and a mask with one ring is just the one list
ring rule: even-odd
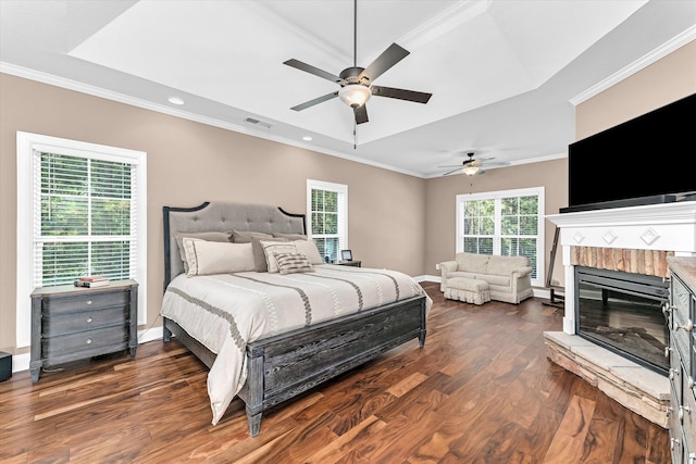
{"label": "bed with grey tufted headboard, dark wood frame and white bedding", "polygon": [[[238,397],[254,437],[268,409],[408,341],[425,343],[432,300],[422,287],[396,271],[324,264],[302,214],[206,202],[164,206],[163,220],[163,340],[174,336],[209,367],[213,425]],[[259,268],[260,247],[272,268]],[[236,267],[215,267],[228,252]]]}

